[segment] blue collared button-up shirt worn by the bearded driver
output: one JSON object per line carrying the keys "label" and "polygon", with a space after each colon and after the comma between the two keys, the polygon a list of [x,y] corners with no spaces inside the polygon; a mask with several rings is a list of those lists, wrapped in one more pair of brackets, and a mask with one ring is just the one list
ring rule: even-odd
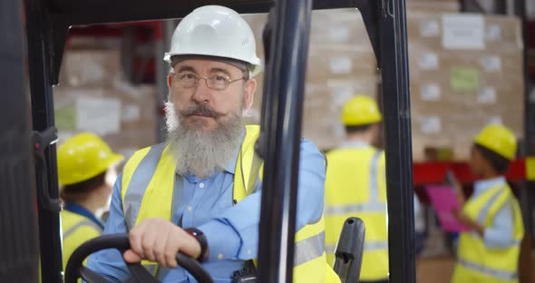
{"label": "blue collared button-up shirt worn by the bearded driver", "polygon": [[[300,150],[296,229],[321,218],[326,178],[324,156],[316,146],[303,140]],[[233,272],[243,267],[244,260],[257,257],[261,192],[257,190],[233,205],[236,160],[237,155],[225,171],[206,179],[193,175],[184,178],[178,174],[175,176],[175,181],[181,181],[183,186],[179,192],[180,203],[173,204],[172,221],[183,228],[196,227],[206,234],[209,259],[202,266],[215,282],[230,282]],[[122,211],[121,179],[119,176],[113,188],[110,217],[104,234],[127,232]],[[113,282],[129,276],[122,255],[116,250],[93,254],[87,266]],[[196,282],[182,268],[162,270],[160,280]]]}

